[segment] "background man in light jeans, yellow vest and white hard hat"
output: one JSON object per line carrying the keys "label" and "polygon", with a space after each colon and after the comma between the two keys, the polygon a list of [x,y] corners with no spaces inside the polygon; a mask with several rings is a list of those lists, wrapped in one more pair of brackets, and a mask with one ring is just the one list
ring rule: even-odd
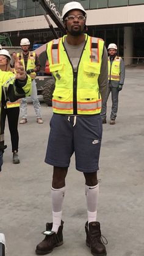
{"label": "background man in light jeans, yellow vest and white hard hat", "polygon": [[[29,52],[29,39],[23,38],[20,42],[22,51],[17,53],[17,56],[20,58],[23,63],[24,69],[27,74],[31,76],[32,79],[32,94],[31,99],[34,106],[35,114],[37,117],[37,123],[43,123],[41,118],[41,107],[40,102],[37,97],[37,87],[35,83],[35,77],[37,76],[37,72],[40,70],[40,63],[38,61],[38,57],[35,52]],[[20,120],[21,124],[27,123],[27,99],[24,98],[21,100],[20,104],[20,115],[22,119]]]}

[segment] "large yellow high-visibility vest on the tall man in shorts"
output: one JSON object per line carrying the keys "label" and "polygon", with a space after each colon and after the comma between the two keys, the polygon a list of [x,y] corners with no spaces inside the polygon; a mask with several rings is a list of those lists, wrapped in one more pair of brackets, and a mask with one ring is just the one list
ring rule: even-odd
{"label": "large yellow high-visibility vest on the tall man in shorts", "polygon": [[56,79],[52,98],[53,112],[68,115],[93,115],[101,112],[98,77],[104,41],[85,34],[84,50],[74,73],[63,42],[67,36],[47,45],[49,69]]}

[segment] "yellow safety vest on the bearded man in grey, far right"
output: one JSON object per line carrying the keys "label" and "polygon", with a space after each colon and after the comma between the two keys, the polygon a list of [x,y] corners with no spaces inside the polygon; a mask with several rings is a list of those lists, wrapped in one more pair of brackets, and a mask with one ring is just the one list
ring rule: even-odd
{"label": "yellow safety vest on the bearded man in grey, far right", "polygon": [[108,79],[109,80],[120,80],[120,60],[121,57],[115,56],[112,61],[112,65],[110,64],[110,58],[108,57]]}

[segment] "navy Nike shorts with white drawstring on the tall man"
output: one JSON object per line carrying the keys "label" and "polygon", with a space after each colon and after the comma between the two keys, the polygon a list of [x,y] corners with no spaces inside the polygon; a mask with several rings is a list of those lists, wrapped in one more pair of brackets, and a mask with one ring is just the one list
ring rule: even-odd
{"label": "navy Nike shorts with white drawstring on the tall man", "polygon": [[98,115],[70,116],[53,114],[45,162],[68,167],[75,153],[76,169],[83,173],[98,171],[102,138],[102,119]]}

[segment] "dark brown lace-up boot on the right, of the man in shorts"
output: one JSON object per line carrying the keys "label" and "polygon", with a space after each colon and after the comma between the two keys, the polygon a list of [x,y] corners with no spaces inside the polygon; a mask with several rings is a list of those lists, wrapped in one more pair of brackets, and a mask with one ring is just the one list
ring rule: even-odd
{"label": "dark brown lace-up boot on the right, of the man in shorts", "polygon": [[[106,256],[106,247],[101,241],[101,230],[99,222],[88,222],[85,223],[85,232],[86,232],[86,244],[90,247],[91,252],[95,256]],[[107,244],[107,240],[106,240]]]}

